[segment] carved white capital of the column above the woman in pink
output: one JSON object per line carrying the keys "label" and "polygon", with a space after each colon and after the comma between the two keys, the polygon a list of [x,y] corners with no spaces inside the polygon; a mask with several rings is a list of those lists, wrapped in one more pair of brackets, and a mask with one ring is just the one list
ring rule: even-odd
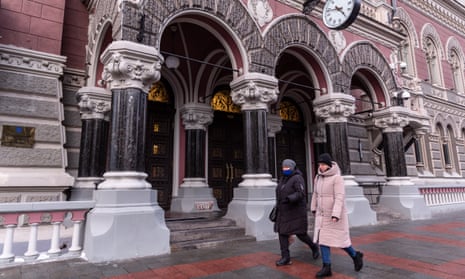
{"label": "carved white capital of the column above the woman in pink", "polygon": [[347,122],[355,113],[355,98],[345,93],[331,93],[317,97],[313,101],[313,111],[326,123]]}

